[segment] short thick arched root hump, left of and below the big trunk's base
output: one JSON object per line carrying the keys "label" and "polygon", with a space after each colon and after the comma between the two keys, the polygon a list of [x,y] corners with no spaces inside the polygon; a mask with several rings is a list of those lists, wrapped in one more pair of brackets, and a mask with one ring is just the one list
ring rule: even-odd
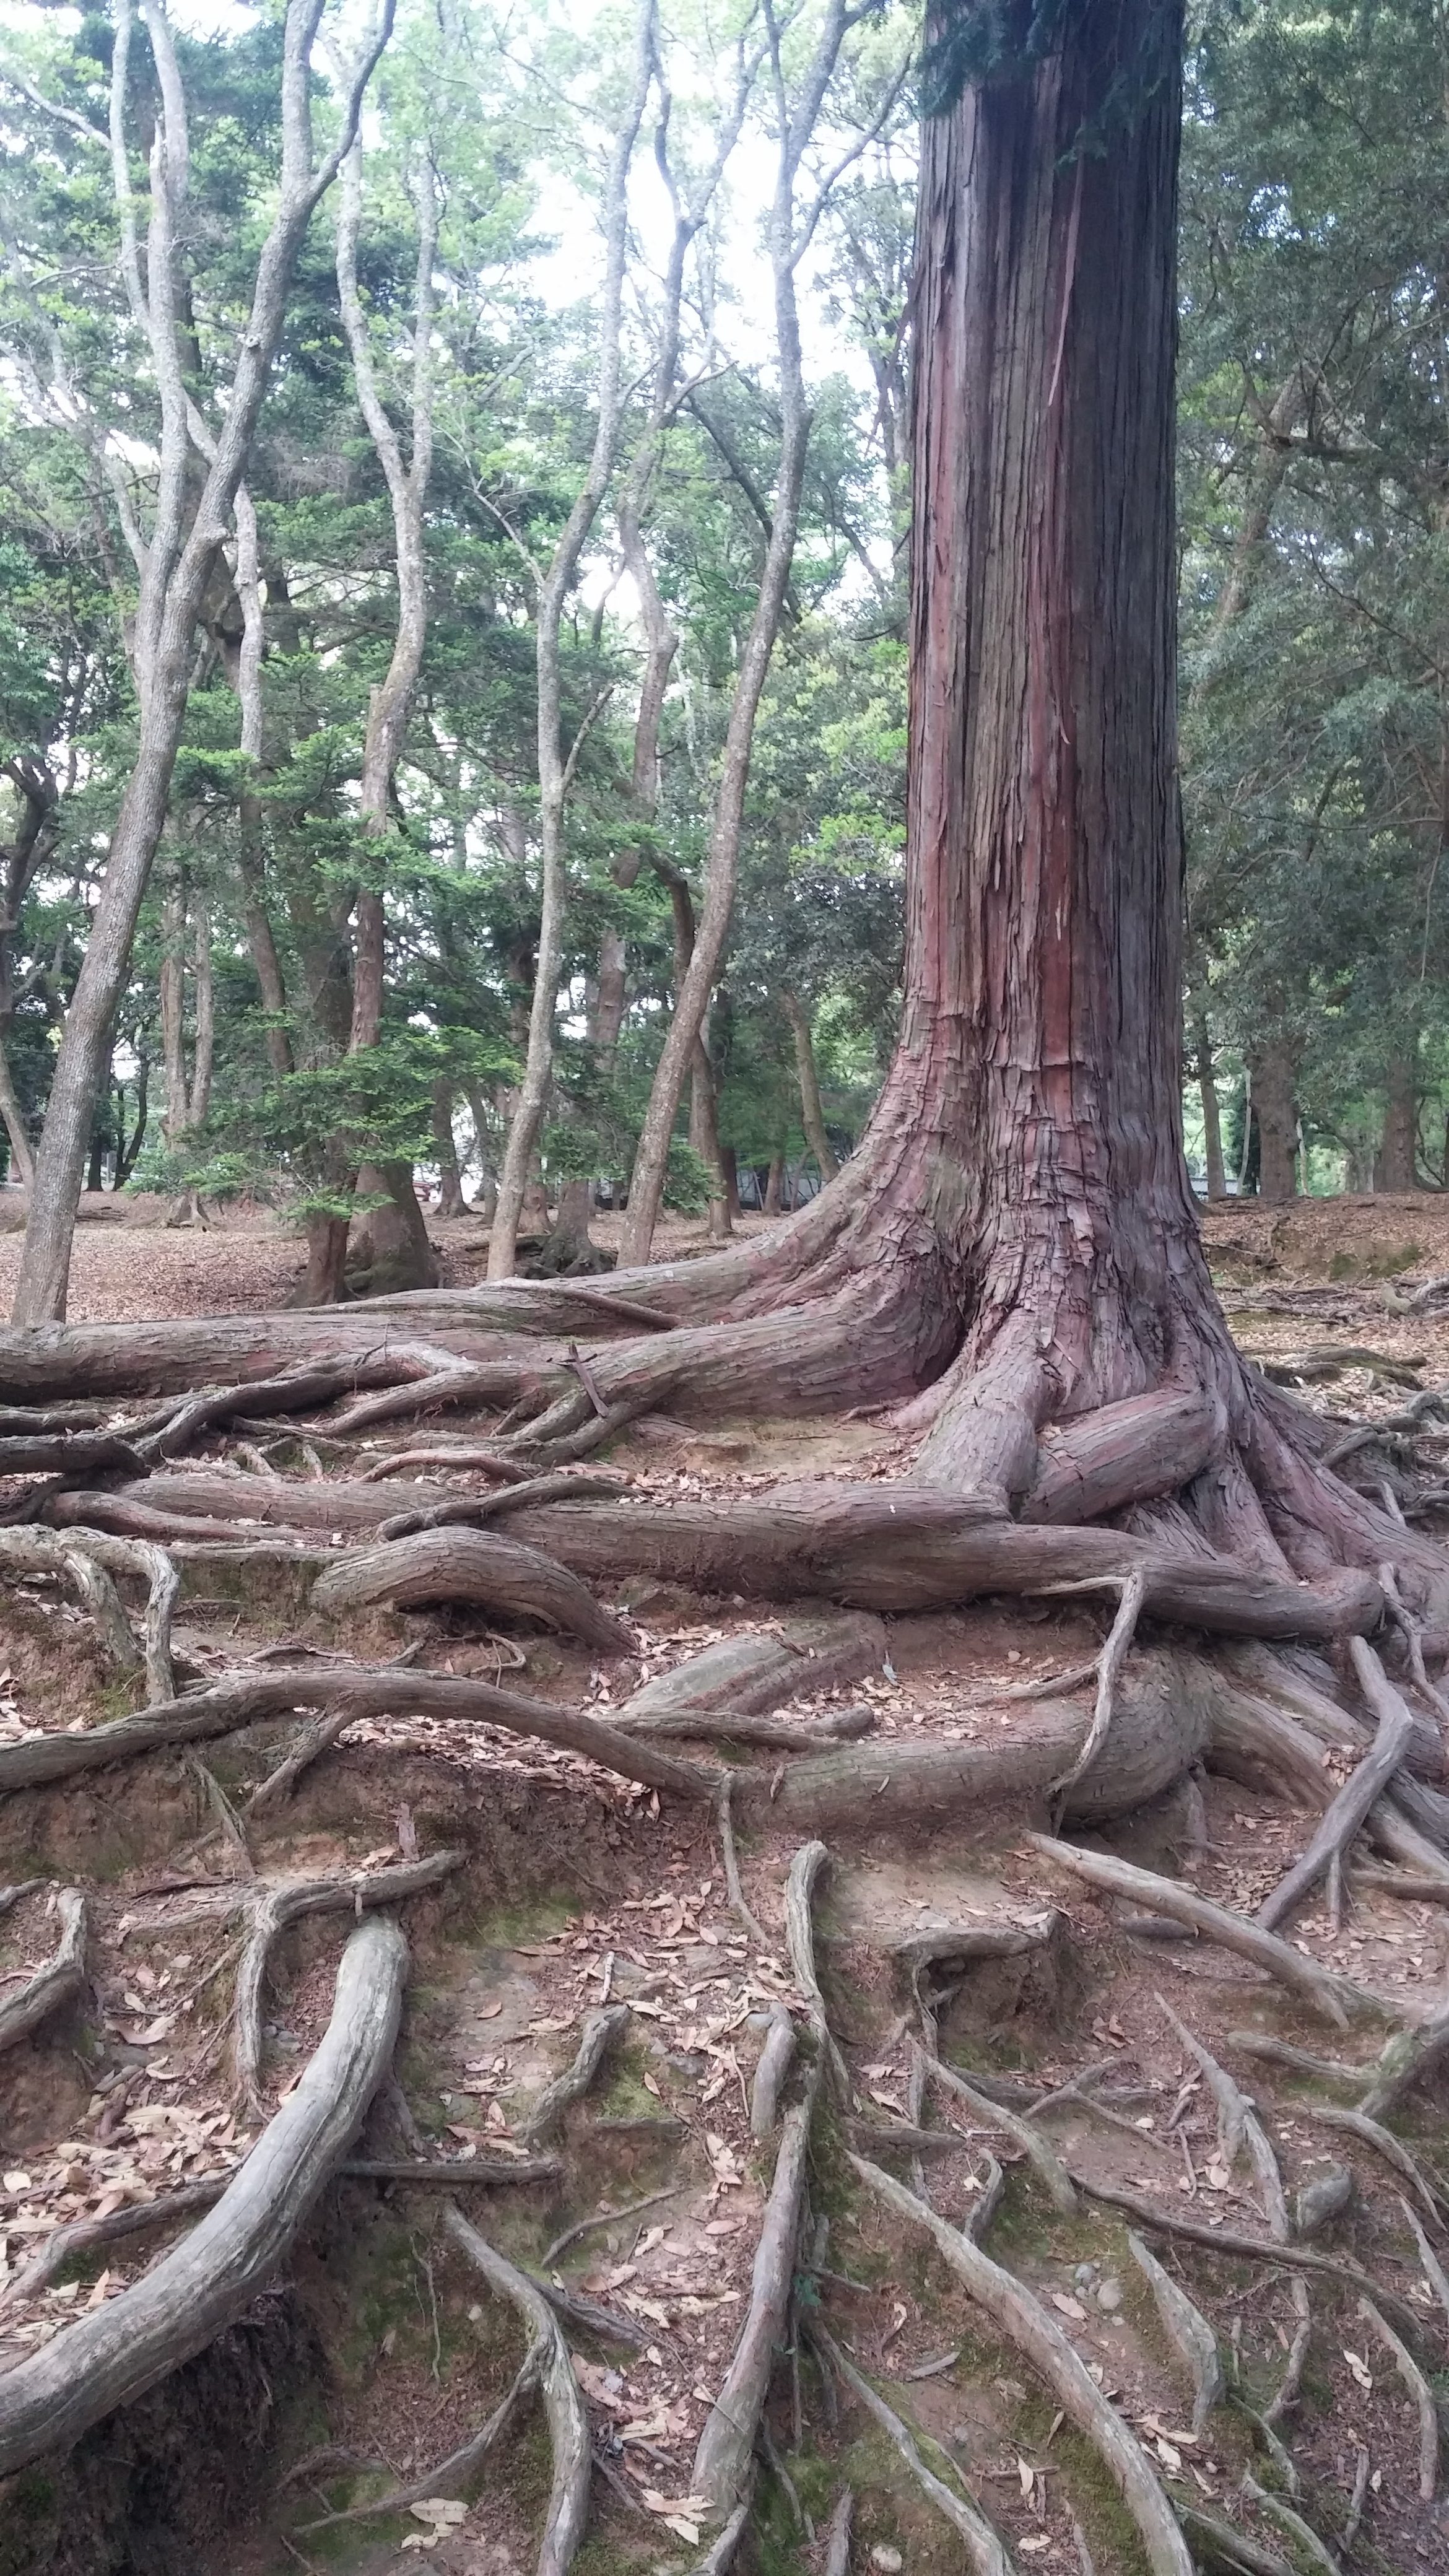
{"label": "short thick arched root hump, left of and below the big trunk's base", "polygon": [[539,1548],[492,1530],[420,1530],[384,1548],[348,1548],[312,1584],[312,1607],[330,1618],[348,1610],[415,1610],[425,1602],[480,1602],[567,1628],[603,1654],[629,1654],[632,1636],[598,1607],[593,1592]]}

